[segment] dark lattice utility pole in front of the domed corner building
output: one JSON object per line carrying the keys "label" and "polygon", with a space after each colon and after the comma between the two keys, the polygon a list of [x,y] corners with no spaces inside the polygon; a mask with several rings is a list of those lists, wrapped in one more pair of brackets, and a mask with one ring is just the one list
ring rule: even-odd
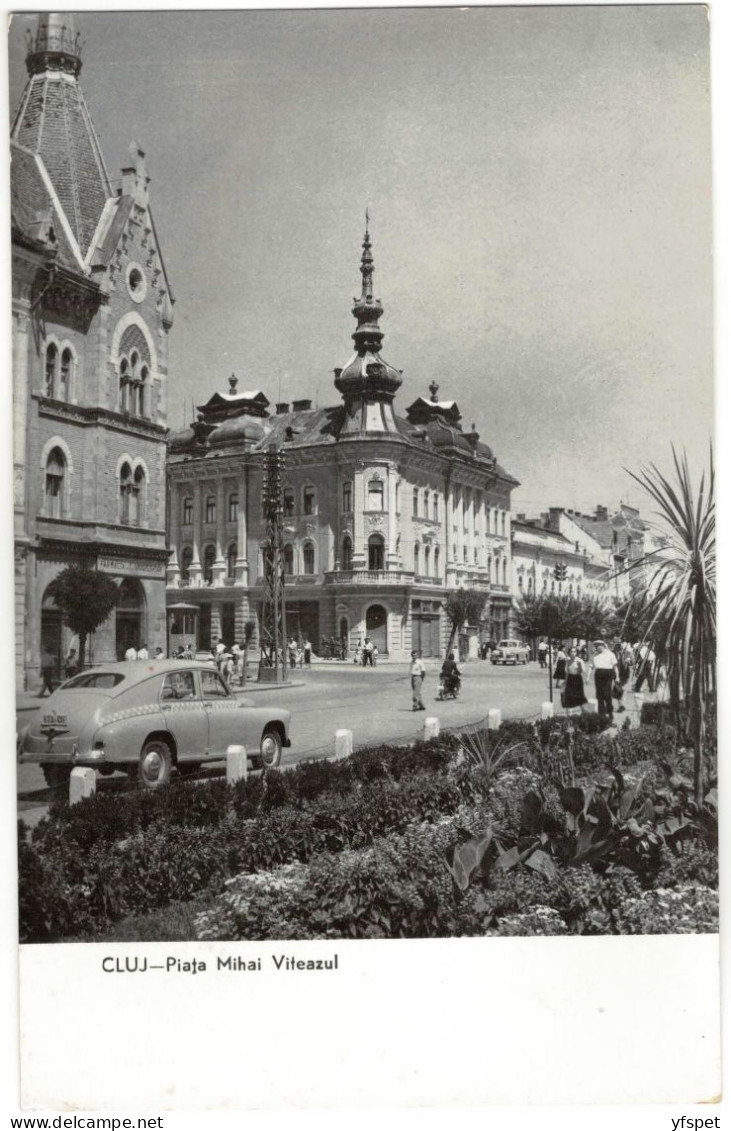
{"label": "dark lattice utility pole in front of the domed corner building", "polygon": [[282,469],[284,452],[270,444],[265,457],[261,506],[266,533],[264,553],[264,602],[259,633],[261,656],[259,680],[278,683],[286,679],[286,613],[284,604],[284,533],[282,529]]}

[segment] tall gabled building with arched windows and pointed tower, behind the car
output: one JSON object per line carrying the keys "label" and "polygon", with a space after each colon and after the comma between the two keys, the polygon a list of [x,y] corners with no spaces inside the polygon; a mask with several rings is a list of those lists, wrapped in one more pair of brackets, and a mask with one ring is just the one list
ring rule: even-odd
{"label": "tall gabled building with arched windows and pointed tower, behind the car", "polygon": [[37,18],[11,130],[16,676],[70,645],[48,596],[71,563],[111,575],[92,663],[165,642],[167,335],[173,295],[145,155],[112,185],[79,83],[74,17]]}

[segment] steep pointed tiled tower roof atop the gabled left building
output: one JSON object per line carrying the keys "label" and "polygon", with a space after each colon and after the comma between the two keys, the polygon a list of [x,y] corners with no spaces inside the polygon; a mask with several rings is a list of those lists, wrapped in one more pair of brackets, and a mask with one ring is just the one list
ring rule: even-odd
{"label": "steep pointed tiled tower roof atop the gabled left building", "polygon": [[78,265],[113,196],[79,84],[80,42],[70,12],[45,12],[28,33],[28,83],[11,141],[35,157]]}

